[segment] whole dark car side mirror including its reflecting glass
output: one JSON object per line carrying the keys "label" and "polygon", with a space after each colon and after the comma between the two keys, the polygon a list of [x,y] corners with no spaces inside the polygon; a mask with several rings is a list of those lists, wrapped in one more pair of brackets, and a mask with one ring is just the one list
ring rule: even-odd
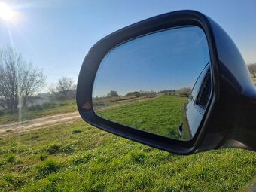
{"label": "whole dark car side mirror including its reflecting glass", "polygon": [[93,126],[175,154],[256,151],[256,90],[209,17],[175,11],[120,29],[87,53],[77,87]]}

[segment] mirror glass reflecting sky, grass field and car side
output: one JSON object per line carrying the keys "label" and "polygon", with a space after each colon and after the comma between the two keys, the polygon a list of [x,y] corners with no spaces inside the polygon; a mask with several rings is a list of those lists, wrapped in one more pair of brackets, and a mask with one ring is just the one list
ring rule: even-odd
{"label": "mirror glass reflecting sky, grass field and car side", "polygon": [[212,90],[209,60],[206,35],[197,26],[127,41],[100,63],[93,109],[99,117],[116,123],[191,139]]}

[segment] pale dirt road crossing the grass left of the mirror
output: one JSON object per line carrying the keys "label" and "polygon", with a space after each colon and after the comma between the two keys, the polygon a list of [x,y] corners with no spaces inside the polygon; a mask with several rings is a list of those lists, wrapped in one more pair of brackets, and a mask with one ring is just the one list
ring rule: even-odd
{"label": "pale dirt road crossing the grass left of the mirror", "polygon": [[73,119],[81,118],[78,112],[56,114],[53,116],[41,117],[23,122],[9,123],[0,125],[0,136],[5,136],[9,133],[20,133],[24,131],[37,130],[44,127],[53,126],[59,123],[67,123]]}

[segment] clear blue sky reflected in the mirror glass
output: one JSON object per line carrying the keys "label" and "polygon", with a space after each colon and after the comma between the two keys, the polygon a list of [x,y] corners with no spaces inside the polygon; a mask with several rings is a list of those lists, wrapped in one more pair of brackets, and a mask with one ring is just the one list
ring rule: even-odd
{"label": "clear blue sky reflected in the mirror glass", "polygon": [[116,90],[121,96],[139,90],[193,87],[209,62],[206,36],[197,26],[145,35],[111,50],[102,60],[93,97]]}

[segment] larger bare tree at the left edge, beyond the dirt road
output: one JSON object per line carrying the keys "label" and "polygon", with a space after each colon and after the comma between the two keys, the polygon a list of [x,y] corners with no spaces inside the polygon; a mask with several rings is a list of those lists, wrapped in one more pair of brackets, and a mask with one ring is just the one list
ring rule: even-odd
{"label": "larger bare tree at the left edge, beyond the dirt road", "polygon": [[46,76],[42,69],[26,62],[21,53],[11,48],[0,50],[0,106],[17,109],[26,106],[27,99],[44,87]]}

